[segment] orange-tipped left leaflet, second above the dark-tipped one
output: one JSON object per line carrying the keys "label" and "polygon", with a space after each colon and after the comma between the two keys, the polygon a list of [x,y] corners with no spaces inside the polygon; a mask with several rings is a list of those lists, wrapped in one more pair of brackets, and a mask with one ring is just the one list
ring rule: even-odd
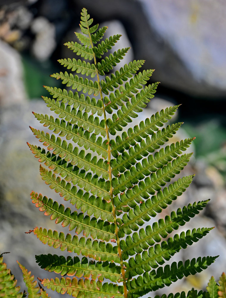
{"label": "orange-tipped left leaflet, second above the dark-tipped one", "polygon": [[83,213],[74,211],[71,213],[70,208],[64,209],[64,205],[58,204],[52,199],[43,197],[41,194],[37,194],[32,191],[31,193],[32,203],[35,204],[41,212],[45,212],[45,215],[51,215],[50,219],[55,220],[56,224],[62,222],[62,226],[69,225],[69,231],[75,229],[76,234],[80,234],[83,231],[83,235],[88,237],[89,234],[93,239],[98,238],[101,240],[109,241],[115,239],[115,224],[110,224],[108,221],[103,221],[95,217]]}

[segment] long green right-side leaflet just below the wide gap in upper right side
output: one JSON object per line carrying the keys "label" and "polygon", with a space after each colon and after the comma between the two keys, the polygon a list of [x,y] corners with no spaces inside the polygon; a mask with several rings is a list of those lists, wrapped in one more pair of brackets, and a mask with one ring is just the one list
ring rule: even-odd
{"label": "long green right-side leaflet just below the wide gap in upper right side", "polygon": [[[158,127],[162,127],[163,123],[171,119],[175,111],[178,109],[179,105],[174,107],[166,108],[165,111],[161,110],[160,113],[152,115],[151,118],[146,118],[145,122],[141,121],[139,125],[135,125],[134,128],[129,128],[127,133],[124,131],[122,133],[122,138],[120,136],[116,137],[116,140],[110,140],[111,153],[114,157],[117,157],[119,153],[123,153],[125,150],[129,150],[131,146],[135,146],[136,143],[140,143],[143,138],[146,139],[148,135],[154,134],[154,131],[158,131]],[[168,126],[168,130],[169,130]],[[163,131],[162,131],[163,132]],[[156,134],[155,138],[158,138],[161,131]],[[166,138],[167,139],[167,138]],[[168,139],[165,141],[167,142]],[[161,143],[160,145],[163,145]],[[158,149],[159,147],[155,148]],[[153,152],[153,151],[151,151]]]}

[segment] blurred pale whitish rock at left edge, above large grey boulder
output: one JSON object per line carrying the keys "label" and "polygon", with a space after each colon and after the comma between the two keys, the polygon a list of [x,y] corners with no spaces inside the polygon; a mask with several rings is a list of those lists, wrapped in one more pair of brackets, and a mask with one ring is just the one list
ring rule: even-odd
{"label": "blurred pale whitish rock at left edge, above large grey boulder", "polygon": [[0,106],[24,103],[26,97],[21,57],[15,49],[0,40]]}

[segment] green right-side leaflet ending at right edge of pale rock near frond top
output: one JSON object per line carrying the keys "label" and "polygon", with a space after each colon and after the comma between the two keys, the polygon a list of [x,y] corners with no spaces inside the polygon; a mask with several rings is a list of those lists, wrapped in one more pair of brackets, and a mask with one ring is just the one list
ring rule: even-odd
{"label": "green right-side leaflet ending at right edge of pale rock near frond top", "polygon": [[[98,73],[100,74],[100,75],[105,75],[105,72],[109,72],[110,70],[112,70],[113,69],[113,66],[117,66],[117,63],[119,63],[120,62],[120,60],[122,60],[123,59],[123,57],[125,56],[125,54],[128,52],[128,50],[129,50],[130,48],[125,48],[125,49],[118,49],[117,50],[117,52],[114,52],[113,53],[113,55],[112,55],[112,53],[107,57],[105,57],[104,59],[102,59],[101,60],[101,62],[98,62],[97,63],[97,69],[98,69]],[[135,64],[136,64],[136,62],[135,62]],[[140,63],[139,63],[140,64]],[[143,63],[142,63],[143,64]],[[136,67],[136,66],[135,66]],[[139,67],[141,67],[141,66],[139,66]],[[127,68],[128,68],[128,66],[127,66]],[[128,73],[128,70],[127,71],[125,71],[125,66],[124,66],[124,69],[121,67],[121,69],[122,69],[122,73],[123,72],[125,72],[125,73]],[[136,72],[135,72],[136,73]],[[117,75],[119,75],[119,72],[117,71]],[[112,75],[111,76],[111,78],[112,78],[112,80],[118,80],[118,81],[120,81],[121,82],[121,80],[120,80],[120,78],[119,77],[123,77],[123,78],[125,78],[125,74],[120,74],[119,76],[118,76],[118,78],[116,78],[114,75]],[[132,77],[131,75],[130,75],[130,73],[129,73],[129,77]],[[110,81],[110,78],[108,77],[108,79],[106,78],[106,80],[108,80],[108,81]],[[124,80],[124,81],[126,81],[127,80],[127,77],[126,77],[126,79]],[[121,83],[121,84],[123,84],[123,83]],[[117,84],[113,84],[113,83],[110,83],[110,85],[117,85]],[[109,86],[110,86],[109,85]],[[107,87],[107,86],[106,86]],[[106,88],[105,87],[105,88]],[[114,89],[113,89],[114,90]]]}

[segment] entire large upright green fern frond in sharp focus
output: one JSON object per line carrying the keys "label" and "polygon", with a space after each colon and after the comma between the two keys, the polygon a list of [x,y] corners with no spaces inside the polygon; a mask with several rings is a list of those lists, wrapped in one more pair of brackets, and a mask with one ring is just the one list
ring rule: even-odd
{"label": "entire large upright green fern frond in sharp focus", "polygon": [[68,72],[51,75],[77,91],[44,86],[52,98],[43,100],[59,118],[33,113],[53,131],[50,135],[31,128],[48,151],[28,144],[35,157],[49,168],[40,166],[42,179],[77,211],[65,209],[34,191],[32,202],[56,224],[68,226],[78,236],[38,227],[32,232],[44,244],[81,257],[48,254],[36,256],[36,260],[45,270],[69,276],[41,280],[44,286],[61,294],[137,298],[200,272],[214,262],[216,257],[199,257],[163,266],[181,248],[197,242],[212,229],[198,228],[167,238],[198,214],[208,200],[194,202],[145,225],[192,182],[193,176],[188,176],[164,187],[189,162],[192,154],[183,152],[194,138],[163,146],[182,124],[163,127],[178,105],[140,121],[116,139],[111,137],[138,117],[154,97],[158,83],[146,85],[153,69],[139,72],[144,60],[134,60],[101,78],[123,59],[129,48],[101,59],[121,35],[101,41],[107,27],[98,30],[98,24],[92,26],[92,22],[83,8],[82,33],[76,33],[81,43],[65,43],[84,60],[58,60],[62,66],[86,77]]}

